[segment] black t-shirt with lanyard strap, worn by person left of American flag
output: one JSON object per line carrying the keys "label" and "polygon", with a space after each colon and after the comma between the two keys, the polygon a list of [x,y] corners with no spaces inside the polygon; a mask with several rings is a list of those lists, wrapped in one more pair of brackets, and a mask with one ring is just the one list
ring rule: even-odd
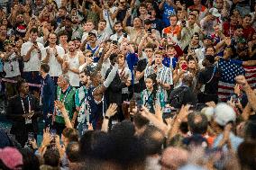
{"label": "black t-shirt with lanyard strap, worn by person left of American flag", "polygon": [[217,94],[219,79],[220,79],[220,69],[217,68],[216,66],[205,67],[205,69],[203,69],[198,74],[198,83],[206,85],[205,86],[206,94]]}

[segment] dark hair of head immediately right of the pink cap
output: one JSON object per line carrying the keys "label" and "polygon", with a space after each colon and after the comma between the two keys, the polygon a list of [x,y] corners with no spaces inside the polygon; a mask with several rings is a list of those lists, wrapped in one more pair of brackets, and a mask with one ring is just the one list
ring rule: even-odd
{"label": "dark hair of head immediately right of the pink cap", "polygon": [[21,153],[23,155],[23,170],[40,169],[39,159],[34,155],[31,148],[23,148]]}

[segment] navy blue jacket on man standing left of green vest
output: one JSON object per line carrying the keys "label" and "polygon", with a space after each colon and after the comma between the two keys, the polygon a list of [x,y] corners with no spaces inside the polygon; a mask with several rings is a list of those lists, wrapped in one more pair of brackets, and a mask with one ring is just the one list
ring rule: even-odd
{"label": "navy blue jacket on man standing left of green vest", "polygon": [[49,75],[42,79],[41,85],[42,112],[53,113],[56,85]]}

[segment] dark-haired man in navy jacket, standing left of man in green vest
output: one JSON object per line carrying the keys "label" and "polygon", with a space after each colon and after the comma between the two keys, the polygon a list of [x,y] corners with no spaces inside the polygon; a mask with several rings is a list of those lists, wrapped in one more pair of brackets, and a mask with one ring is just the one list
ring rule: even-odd
{"label": "dark-haired man in navy jacket, standing left of man in green vest", "polygon": [[54,113],[54,100],[56,86],[54,81],[49,75],[50,67],[47,64],[41,64],[40,74],[42,77],[41,83],[41,98],[40,103],[42,106],[43,120],[45,121],[45,127],[51,123],[51,118]]}

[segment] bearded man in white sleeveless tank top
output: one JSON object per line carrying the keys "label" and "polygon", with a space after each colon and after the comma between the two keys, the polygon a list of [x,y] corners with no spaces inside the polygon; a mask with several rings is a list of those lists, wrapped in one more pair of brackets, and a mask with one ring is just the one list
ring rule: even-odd
{"label": "bearded man in white sleeveless tank top", "polygon": [[69,41],[69,52],[64,56],[62,69],[64,73],[68,73],[70,85],[79,86],[79,70],[78,68],[85,63],[84,56],[76,49],[74,41]]}

